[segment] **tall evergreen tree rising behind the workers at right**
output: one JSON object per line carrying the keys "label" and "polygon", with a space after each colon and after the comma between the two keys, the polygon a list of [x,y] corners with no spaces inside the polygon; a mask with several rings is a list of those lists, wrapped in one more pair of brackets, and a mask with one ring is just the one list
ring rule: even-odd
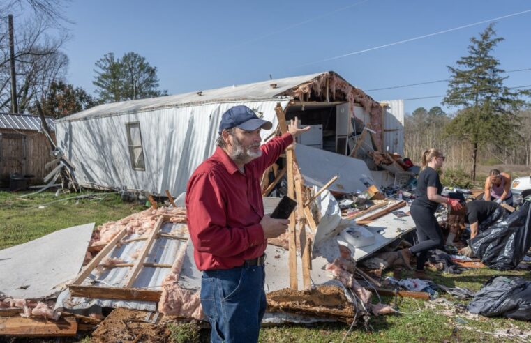
{"label": "tall evergreen tree rising behind the workers at right", "polygon": [[511,144],[518,118],[516,111],[523,105],[518,96],[503,85],[507,77],[500,74],[500,62],[491,52],[503,40],[495,37],[493,24],[479,38],[470,38],[468,56],[449,66],[451,73],[447,94],[443,100],[449,107],[458,107],[454,119],[446,126],[447,135],[470,142],[472,146],[472,180],[476,179],[479,148],[487,142],[497,146]]}

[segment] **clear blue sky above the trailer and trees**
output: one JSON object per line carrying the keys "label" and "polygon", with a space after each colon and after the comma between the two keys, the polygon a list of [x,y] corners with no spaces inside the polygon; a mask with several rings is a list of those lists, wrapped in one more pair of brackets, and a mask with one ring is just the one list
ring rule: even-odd
{"label": "clear blue sky above the trailer and trees", "polygon": [[[447,66],[467,54],[470,37],[488,24],[323,60],[530,9],[527,0],[74,0],[65,13],[73,37],[63,51],[68,82],[90,93],[94,63],[108,52],[146,57],[170,94],[325,70],[369,90],[447,79]],[[501,67],[531,68],[531,12],[498,20],[495,30],[505,38],[494,52]],[[508,76],[507,86],[531,84],[531,70]],[[444,95],[446,86],[367,93],[410,99]],[[407,100],[405,110],[441,100]]]}

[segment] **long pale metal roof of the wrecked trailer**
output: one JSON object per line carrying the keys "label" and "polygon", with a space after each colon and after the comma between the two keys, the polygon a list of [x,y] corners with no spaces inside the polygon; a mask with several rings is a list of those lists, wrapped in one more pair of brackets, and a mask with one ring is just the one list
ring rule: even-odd
{"label": "long pale metal roof of the wrecked trailer", "polygon": [[323,72],[295,77],[285,77],[283,79],[269,79],[267,81],[255,82],[252,84],[227,86],[218,89],[197,90],[190,93],[175,94],[172,96],[161,96],[158,98],[114,102],[111,104],[104,104],[92,107],[91,109],[86,109],[82,112],[66,116],[62,119],[59,119],[57,122],[76,121],[82,119],[92,119],[101,116],[145,112],[165,107],[202,105],[209,102],[253,101],[271,100],[274,98],[291,98],[290,93],[292,92],[290,91],[292,89],[303,84],[308,84],[308,82],[311,82],[323,75],[338,76],[334,72]]}

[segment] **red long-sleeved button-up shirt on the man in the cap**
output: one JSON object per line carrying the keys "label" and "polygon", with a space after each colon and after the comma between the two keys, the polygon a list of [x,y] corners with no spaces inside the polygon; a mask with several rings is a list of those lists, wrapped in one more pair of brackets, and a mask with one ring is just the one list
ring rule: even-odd
{"label": "red long-sleeved button-up shirt on the man in the cap", "polygon": [[260,179],[292,142],[287,132],[262,145],[262,156],[245,165],[245,174],[219,147],[195,169],[186,187],[186,215],[199,270],[234,268],[264,254]]}

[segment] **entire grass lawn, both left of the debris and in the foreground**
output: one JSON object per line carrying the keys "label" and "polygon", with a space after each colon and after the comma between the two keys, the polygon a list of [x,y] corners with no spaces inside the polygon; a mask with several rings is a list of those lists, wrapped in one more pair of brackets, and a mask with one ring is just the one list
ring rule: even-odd
{"label": "entire grass lawn, both left of the debris and in the foreground", "polygon": [[[77,195],[69,193],[55,197],[53,192],[45,192],[31,199],[20,200],[17,197],[22,193],[0,192],[0,249],[31,241],[52,231],[74,225],[95,222],[97,226],[144,209],[143,206],[122,202],[117,194],[82,193],[82,195],[90,194],[96,197],[58,201],[40,208],[41,205],[51,201]],[[531,280],[529,272],[499,272],[490,269],[466,270],[461,275],[446,273],[430,273],[430,275],[435,276],[435,282],[439,284],[467,287],[472,291],[479,290],[482,284],[494,275],[519,275]],[[447,299],[451,303],[463,305],[467,303],[447,294],[440,294],[440,298]],[[373,302],[376,301],[374,298]],[[393,301],[393,298],[382,297],[384,303]],[[507,330],[511,332],[531,330],[530,322],[477,317],[468,314],[467,311],[456,314],[454,307],[448,307],[440,303],[440,300],[424,302],[399,298],[398,310],[401,314],[371,317],[370,330],[366,331],[357,326],[350,331],[345,342],[525,342],[522,338],[495,337],[491,333],[502,330],[505,333]],[[341,342],[348,329],[349,326],[343,323],[268,327],[262,328],[260,342]],[[203,332],[201,337],[203,340],[208,340],[208,335],[209,333]],[[172,337],[181,337],[182,342],[187,342],[186,335],[172,335]],[[531,337],[527,340],[531,340]],[[87,342],[87,338],[83,342]]]}

